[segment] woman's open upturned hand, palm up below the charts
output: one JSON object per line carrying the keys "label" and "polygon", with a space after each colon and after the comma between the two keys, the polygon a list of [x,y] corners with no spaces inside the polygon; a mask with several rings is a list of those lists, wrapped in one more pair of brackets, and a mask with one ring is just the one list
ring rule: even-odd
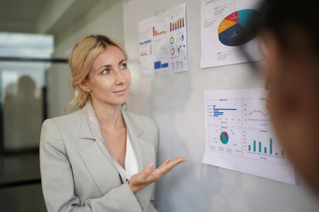
{"label": "woman's open upturned hand, palm up below the charts", "polygon": [[140,174],[133,175],[129,180],[129,187],[132,192],[135,194],[147,185],[154,183],[158,179],[160,179],[163,175],[170,172],[177,165],[186,162],[186,158],[177,157],[174,161],[171,161],[170,158],[166,159],[166,161],[159,166],[157,169],[153,170],[153,163],[149,163]]}

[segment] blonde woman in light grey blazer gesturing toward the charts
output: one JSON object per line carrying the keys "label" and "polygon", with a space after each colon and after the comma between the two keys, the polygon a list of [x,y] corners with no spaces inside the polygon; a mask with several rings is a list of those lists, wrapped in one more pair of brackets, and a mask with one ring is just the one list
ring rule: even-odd
{"label": "blonde woman in light grey blazer gesturing toward the charts", "polygon": [[154,120],[125,111],[127,55],[115,40],[90,35],[70,55],[79,110],[45,120],[40,139],[44,200],[50,211],[157,211],[154,182],[185,158],[154,169]]}

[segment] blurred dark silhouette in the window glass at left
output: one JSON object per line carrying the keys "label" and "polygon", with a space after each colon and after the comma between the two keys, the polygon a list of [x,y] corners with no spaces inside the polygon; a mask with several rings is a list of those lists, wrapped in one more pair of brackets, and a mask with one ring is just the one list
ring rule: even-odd
{"label": "blurred dark silhouette in the window glass at left", "polygon": [[[12,86],[17,86],[15,95]],[[4,100],[5,140],[7,150],[38,147],[43,122],[42,102],[35,97],[34,80],[23,75],[17,85],[8,84]],[[41,95],[42,96],[42,95]]]}

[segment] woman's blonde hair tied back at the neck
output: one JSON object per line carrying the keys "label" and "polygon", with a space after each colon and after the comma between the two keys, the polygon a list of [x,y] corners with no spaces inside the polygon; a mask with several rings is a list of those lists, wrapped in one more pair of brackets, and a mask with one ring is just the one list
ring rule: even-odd
{"label": "woman's blonde hair tied back at the neck", "polygon": [[82,90],[78,84],[85,79],[89,79],[89,72],[94,60],[109,45],[117,46],[123,52],[125,59],[127,59],[127,54],[123,47],[116,40],[104,35],[89,35],[75,44],[69,57],[74,98],[64,109],[73,106],[81,109],[88,102],[90,93]]}

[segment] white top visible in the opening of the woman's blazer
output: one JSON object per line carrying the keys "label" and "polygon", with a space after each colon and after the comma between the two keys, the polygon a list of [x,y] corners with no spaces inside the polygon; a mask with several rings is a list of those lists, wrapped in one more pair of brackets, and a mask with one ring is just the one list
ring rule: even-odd
{"label": "white top visible in the opening of the woman's blazer", "polygon": [[130,179],[132,175],[139,173],[139,163],[134,152],[131,140],[126,133],[126,154],[124,161],[124,172],[126,179]]}

